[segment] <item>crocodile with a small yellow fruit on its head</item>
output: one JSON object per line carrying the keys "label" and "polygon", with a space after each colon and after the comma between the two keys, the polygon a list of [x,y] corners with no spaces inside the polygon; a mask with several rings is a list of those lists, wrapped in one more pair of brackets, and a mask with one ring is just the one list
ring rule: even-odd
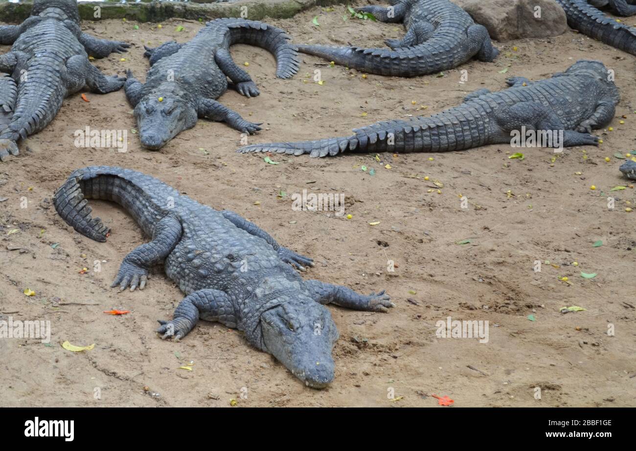
{"label": "crocodile with a small yellow fruit on its head", "polygon": [[298,52],[279,28],[254,20],[220,18],[207,22],[190,42],[170,41],[156,48],[146,48],[151,69],[146,83],[140,83],[131,71],[125,92],[134,105],[141,144],[157,150],[178,133],[192,128],[198,118],[225,121],[242,133],[261,130],[259,123],[243,119],[237,112],[217,102],[228,88],[245,97],[259,95],[247,72],[230,56],[232,44],[263,47],[277,60],[276,76],[289,78],[298,72]]}

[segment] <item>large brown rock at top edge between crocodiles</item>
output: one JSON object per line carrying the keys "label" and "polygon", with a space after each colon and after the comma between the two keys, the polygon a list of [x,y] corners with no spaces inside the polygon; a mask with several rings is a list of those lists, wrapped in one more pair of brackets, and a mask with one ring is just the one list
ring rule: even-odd
{"label": "large brown rock at top edge between crocodiles", "polygon": [[456,3],[497,41],[558,36],[567,30],[565,11],[555,0],[459,0]]}

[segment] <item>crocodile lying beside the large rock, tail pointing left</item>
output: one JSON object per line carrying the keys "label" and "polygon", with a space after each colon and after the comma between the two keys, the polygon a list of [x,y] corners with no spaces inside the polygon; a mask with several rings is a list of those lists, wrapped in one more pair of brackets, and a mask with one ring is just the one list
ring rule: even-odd
{"label": "crocodile lying beside the large rock, tail pointing left", "polygon": [[369,5],[380,22],[404,22],[403,39],[386,39],[391,48],[298,45],[298,51],[371,74],[415,77],[453,69],[476,56],[490,62],[499,55],[488,30],[448,0],[394,0],[391,6]]}

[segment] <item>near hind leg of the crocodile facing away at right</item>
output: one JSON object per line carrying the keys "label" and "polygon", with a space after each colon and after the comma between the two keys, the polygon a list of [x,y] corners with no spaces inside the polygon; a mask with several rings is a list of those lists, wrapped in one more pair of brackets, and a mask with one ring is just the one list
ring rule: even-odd
{"label": "near hind leg of the crocodile facing away at right", "polygon": [[574,130],[565,130],[561,119],[550,109],[537,102],[519,102],[511,107],[505,107],[495,114],[497,124],[501,127],[501,142],[510,141],[513,131],[521,130],[525,126],[527,130],[537,131],[563,131],[563,142],[553,140],[553,145],[562,144],[563,147],[575,145],[598,145],[598,137],[589,133],[580,133]]}

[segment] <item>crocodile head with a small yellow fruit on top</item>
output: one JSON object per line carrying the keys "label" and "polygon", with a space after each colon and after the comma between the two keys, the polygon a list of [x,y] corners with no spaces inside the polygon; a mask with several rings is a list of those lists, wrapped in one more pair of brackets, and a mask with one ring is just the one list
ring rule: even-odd
{"label": "crocodile head with a small yellow fruit on top", "polygon": [[[161,94],[159,94],[161,93]],[[181,131],[197,123],[194,102],[174,90],[155,90],[135,107],[141,144],[148,149],[161,149]]]}

